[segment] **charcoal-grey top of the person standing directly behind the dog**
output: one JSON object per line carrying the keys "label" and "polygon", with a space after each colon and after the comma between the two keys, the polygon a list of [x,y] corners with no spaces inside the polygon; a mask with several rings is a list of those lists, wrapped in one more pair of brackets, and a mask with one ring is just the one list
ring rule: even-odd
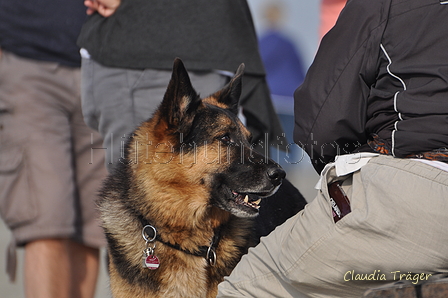
{"label": "charcoal-grey top of the person standing directly behind the dog", "polygon": [[92,15],[78,45],[99,63],[122,68],[171,69],[174,58],[188,70],[264,75],[246,0],[122,0],[104,18]]}

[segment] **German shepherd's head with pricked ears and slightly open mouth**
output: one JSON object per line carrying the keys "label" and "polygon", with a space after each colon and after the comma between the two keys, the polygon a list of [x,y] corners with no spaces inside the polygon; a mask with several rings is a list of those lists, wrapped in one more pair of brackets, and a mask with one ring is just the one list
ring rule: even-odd
{"label": "German shepherd's head with pricked ears and slightly open mouth", "polygon": [[[151,154],[165,168],[150,176],[196,198],[188,204],[252,217],[258,214],[260,199],[278,189],[285,172],[253,150],[251,134],[238,118],[243,71],[244,64],[224,88],[201,99],[182,61],[176,59],[159,109],[136,134],[141,139],[151,130],[157,144]],[[144,171],[154,168],[161,169]]]}

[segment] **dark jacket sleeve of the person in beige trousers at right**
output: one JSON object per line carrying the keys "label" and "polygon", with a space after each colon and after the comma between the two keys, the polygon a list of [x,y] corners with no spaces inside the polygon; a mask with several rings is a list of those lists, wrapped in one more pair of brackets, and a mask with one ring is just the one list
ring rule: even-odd
{"label": "dark jacket sleeve of the person in beige trousers at right", "polygon": [[318,173],[367,141],[367,98],[391,0],[350,0],[294,93],[294,141]]}

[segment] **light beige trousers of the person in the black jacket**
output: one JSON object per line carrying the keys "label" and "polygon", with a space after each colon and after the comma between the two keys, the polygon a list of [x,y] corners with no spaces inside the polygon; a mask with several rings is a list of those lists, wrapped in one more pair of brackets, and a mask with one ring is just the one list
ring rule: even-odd
{"label": "light beige trousers of the person in the black jacket", "polygon": [[[334,168],[324,184],[336,179]],[[372,158],[344,177],[352,212],[336,224],[328,190],[249,250],[218,297],[361,297],[448,271],[448,172]],[[428,275],[426,275],[428,274]]]}

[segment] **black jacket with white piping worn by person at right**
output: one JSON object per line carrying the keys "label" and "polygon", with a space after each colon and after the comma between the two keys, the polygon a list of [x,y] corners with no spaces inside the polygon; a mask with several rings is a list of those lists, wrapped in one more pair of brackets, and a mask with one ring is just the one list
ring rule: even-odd
{"label": "black jacket with white piping worn by person at right", "polygon": [[296,143],[320,172],[336,155],[448,147],[448,4],[349,0],[295,94]]}

